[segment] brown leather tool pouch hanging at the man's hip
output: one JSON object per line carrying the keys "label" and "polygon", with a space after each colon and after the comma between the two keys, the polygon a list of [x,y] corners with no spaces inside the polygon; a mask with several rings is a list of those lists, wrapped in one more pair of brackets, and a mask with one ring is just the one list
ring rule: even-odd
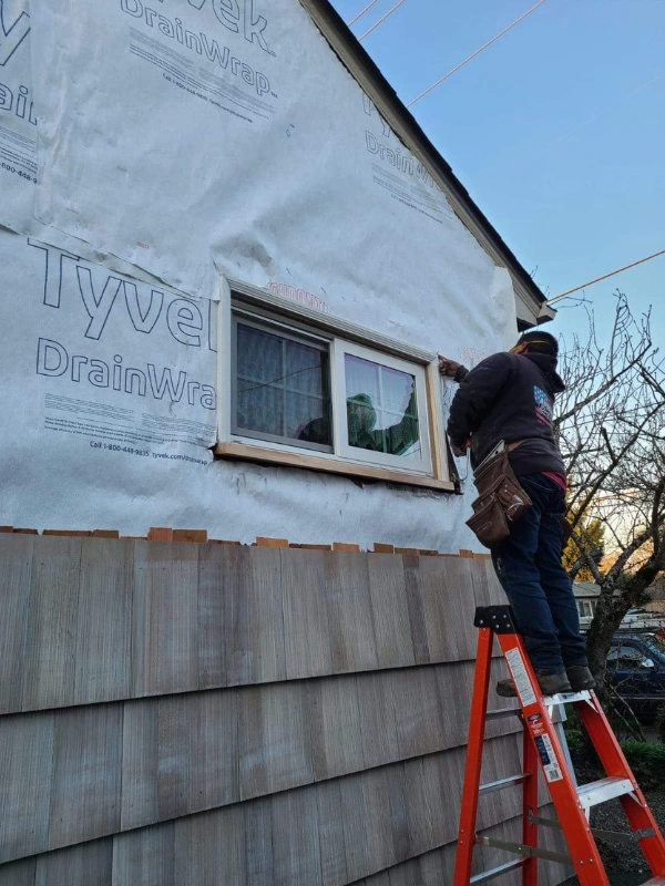
{"label": "brown leather tool pouch hanging at the man's hip", "polygon": [[492,548],[510,535],[510,524],[519,519],[531,498],[516,478],[508,460],[509,450],[483,462],[473,474],[478,498],[472,503],[473,516],[467,526],[481,545]]}

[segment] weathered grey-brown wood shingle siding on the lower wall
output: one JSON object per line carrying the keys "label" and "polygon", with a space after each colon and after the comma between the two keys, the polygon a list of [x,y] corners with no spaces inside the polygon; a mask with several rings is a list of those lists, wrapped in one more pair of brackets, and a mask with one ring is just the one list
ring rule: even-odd
{"label": "weathered grey-brown wood shingle siding on the lower wall", "polygon": [[[450,882],[485,559],[16,534],[0,555],[2,886]],[[483,779],[520,771],[519,729],[490,721]],[[520,813],[489,794],[480,827]]]}

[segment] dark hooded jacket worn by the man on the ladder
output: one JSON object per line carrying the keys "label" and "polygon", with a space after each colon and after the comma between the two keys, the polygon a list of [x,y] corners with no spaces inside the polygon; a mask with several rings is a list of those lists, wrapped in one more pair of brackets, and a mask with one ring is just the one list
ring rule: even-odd
{"label": "dark hooded jacket worn by the man on the ladder", "polygon": [[556,358],[542,353],[495,353],[470,372],[450,406],[448,435],[457,446],[471,439],[477,466],[504,440],[524,442],[510,454],[518,476],[551,471],[565,476],[552,429],[554,395],[565,390]]}

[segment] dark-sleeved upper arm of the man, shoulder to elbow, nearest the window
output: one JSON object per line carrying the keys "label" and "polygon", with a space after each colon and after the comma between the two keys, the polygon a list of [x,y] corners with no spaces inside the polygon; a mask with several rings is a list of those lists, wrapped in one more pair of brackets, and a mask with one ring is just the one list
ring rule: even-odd
{"label": "dark-sleeved upper arm of the man, shoulder to elbow, nearest the window", "polygon": [[514,361],[512,354],[495,353],[463,377],[448,419],[447,431],[453,450],[467,449],[468,441],[480,427],[499,392],[512,378]]}

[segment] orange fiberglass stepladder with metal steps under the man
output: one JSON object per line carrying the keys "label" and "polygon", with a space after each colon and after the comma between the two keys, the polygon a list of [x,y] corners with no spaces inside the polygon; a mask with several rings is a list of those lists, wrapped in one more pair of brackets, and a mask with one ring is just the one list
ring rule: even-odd
{"label": "orange fiberglass stepladder with metal steps under the man", "polygon": [[[539,858],[573,865],[582,886],[610,886],[594,833],[603,839],[636,841],[654,874],[644,886],[665,886],[665,841],[594,692],[541,694],[510,606],[479,607],[473,624],[480,631],[453,886],[474,886],[519,869],[522,872],[523,886],[536,886]],[[488,711],[494,635],[516,687],[519,708]],[[582,786],[575,782],[556,725],[552,722],[554,708],[567,703],[574,705],[606,773],[606,777]],[[490,784],[480,784],[485,721],[510,714],[516,714],[524,728],[523,772]],[[538,814],[539,765],[559,821]],[[519,784],[522,785],[523,796],[522,842],[509,843],[479,835],[475,831],[479,796]],[[632,835],[592,832],[589,823],[591,807],[615,797],[621,801]],[[538,825],[560,828],[570,857],[540,848]],[[518,857],[491,870],[472,875],[475,845],[504,849]]]}

